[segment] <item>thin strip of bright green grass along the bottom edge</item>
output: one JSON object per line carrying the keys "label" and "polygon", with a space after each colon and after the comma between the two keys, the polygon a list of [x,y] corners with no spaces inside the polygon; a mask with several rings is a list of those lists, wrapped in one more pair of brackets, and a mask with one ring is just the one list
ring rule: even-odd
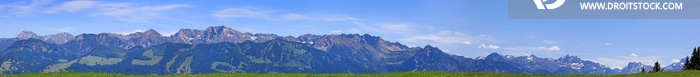
{"label": "thin strip of bright green grass along the bottom edge", "polygon": [[622,75],[531,75],[501,73],[446,73],[446,72],[401,72],[382,74],[195,74],[195,75],[127,75],[110,73],[34,73],[0,75],[2,77],[698,77],[700,71],[662,72]]}

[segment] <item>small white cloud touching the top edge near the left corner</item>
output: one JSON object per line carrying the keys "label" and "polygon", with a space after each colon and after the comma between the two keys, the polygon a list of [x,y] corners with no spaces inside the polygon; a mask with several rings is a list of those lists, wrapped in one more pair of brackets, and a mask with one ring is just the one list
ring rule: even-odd
{"label": "small white cloud touching the top edge near the left corner", "polygon": [[91,8],[97,4],[97,1],[69,1],[64,2],[59,6],[51,7],[45,13],[56,13],[60,11],[64,12],[76,12],[84,9]]}

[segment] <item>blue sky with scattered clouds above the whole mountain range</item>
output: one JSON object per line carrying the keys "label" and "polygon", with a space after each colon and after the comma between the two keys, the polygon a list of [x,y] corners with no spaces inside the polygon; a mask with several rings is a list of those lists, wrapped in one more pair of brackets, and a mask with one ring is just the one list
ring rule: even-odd
{"label": "blue sky with scattered clouds above the whole mountain range", "polygon": [[368,33],[466,57],[576,55],[609,67],[668,65],[700,46],[698,20],[508,19],[506,0],[3,0],[0,37],[225,25],[242,32]]}

